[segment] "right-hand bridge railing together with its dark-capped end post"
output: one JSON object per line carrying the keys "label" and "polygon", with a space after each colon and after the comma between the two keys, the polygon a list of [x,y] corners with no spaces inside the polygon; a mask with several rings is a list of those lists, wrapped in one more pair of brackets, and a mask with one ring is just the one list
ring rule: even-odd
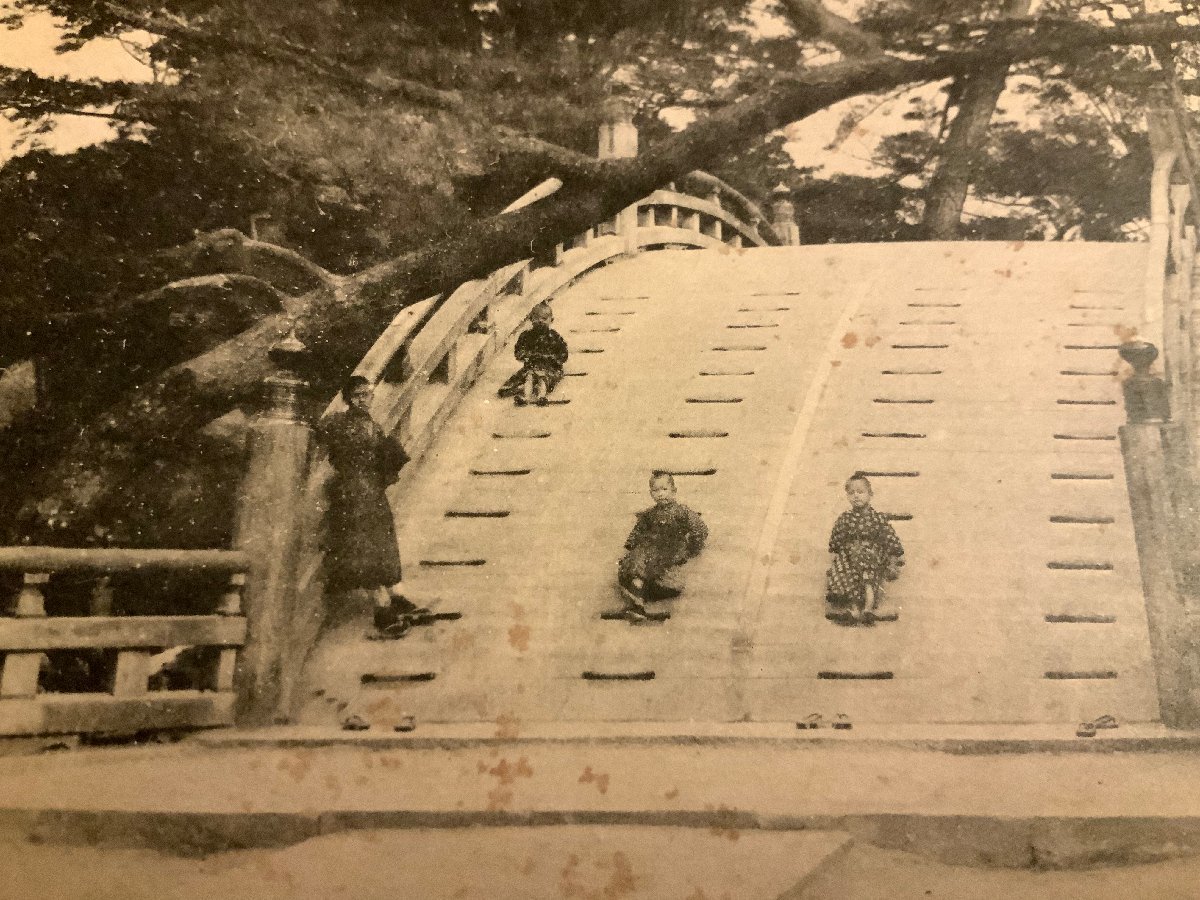
{"label": "right-hand bridge railing together with its dark-capped end post", "polygon": [[[1154,158],[1150,252],[1139,340],[1121,346],[1133,367],[1123,383],[1121,449],[1163,722],[1200,727],[1200,323],[1193,277],[1200,197],[1171,86],[1147,119]],[[1162,374],[1152,371],[1159,355]]]}

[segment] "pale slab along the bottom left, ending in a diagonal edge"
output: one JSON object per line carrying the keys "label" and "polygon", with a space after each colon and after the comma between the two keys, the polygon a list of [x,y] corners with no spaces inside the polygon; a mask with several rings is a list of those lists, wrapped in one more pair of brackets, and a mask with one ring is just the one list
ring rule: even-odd
{"label": "pale slab along the bottom left, ending in a diagonal edge", "polygon": [[569,826],[355,832],[204,859],[0,844],[0,896],[773,900],[803,896],[848,846],[838,834]]}

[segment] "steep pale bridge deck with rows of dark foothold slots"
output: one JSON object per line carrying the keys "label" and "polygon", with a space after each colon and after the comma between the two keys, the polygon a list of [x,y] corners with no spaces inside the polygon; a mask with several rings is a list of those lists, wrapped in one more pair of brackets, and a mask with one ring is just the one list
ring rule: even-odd
{"label": "steep pale bridge deck with rows of dark foothold slots", "polygon": [[[593,270],[553,300],[557,402],[497,397],[506,348],[396,510],[410,595],[463,618],[368,641],[364,606],[314,649],[300,721],[1157,720],[1114,439],[1144,264],[722,245]],[[708,548],[668,622],[602,620],[655,469]],[[824,617],[854,470],[907,551],[874,628]]]}

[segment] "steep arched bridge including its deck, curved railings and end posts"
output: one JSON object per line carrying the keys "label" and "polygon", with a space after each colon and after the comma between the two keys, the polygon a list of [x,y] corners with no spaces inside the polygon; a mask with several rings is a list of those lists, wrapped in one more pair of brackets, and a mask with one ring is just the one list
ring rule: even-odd
{"label": "steep arched bridge including its deck, curved railings and end posts", "polygon": [[[230,724],[235,689],[245,720],[331,727],[1195,724],[1194,230],[1190,169],[1163,133],[1148,244],[797,246],[785,198],[764,226],[703,178],[706,197],[655,192],[552,259],[406,310],[359,371],[415,460],[392,498],[407,587],[463,618],[368,641],[368,607],[330,610],[328,467],[307,464],[310,426],[283,403],[256,426],[239,552],[0,551],[25,576],[20,618],[0,626],[0,733]],[[518,408],[496,391],[542,300],[568,377],[554,403]],[[1138,334],[1164,348],[1175,420],[1144,409],[1121,427],[1117,352]],[[634,628],[600,616],[652,470],[676,475],[712,538],[672,618]],[[856,470],[907,551],[894,620],[874,629],[827,622],[822,602]],[[108,616],[103,576],[143,565],[230,587],[214,616]],[[42,618],[61,569],[100,577],[91,617]],[[212,672],[149,690],[175,644],[215,648]],[[116,656],[110,694],[38,694],[41,654],[71,648]]]}

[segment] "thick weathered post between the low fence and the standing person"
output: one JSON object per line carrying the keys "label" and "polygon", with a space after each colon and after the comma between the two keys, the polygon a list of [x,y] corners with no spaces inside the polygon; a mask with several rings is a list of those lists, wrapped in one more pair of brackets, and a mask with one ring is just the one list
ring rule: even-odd
{"label": "thick weathered post between the low fence and the standing person", "polygon": [[244,598],[247,634],[238,660],[238,721],[281,721],[281,671],[300,578],[299,523],[312,428],[305,420],[305,346],[294,332],[271,350],[278,371],[265,382],[266,403],[250,428],[248,461],[238,498],[235,544],[250,556]]}

